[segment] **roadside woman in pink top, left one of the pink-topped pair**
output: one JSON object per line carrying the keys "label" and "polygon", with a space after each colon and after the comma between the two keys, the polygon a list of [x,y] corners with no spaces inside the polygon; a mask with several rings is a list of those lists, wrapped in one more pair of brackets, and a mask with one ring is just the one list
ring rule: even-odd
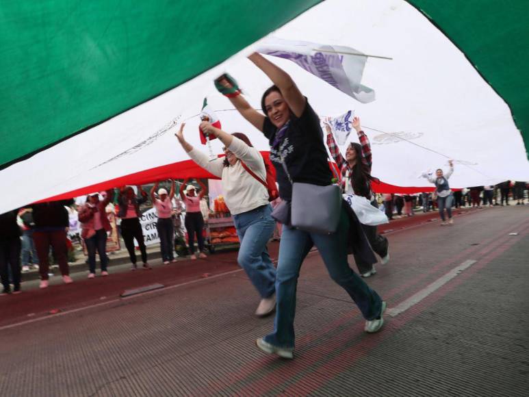
{"label": "roadside woman in pink top, left one of the pink-topped pair", "polygon": [[156,228],[160,239],[160,250],[162,251],[162,260],[165,265],[169,262],[175,262],[172,255],[172,239],[175,237],[175,229],[172,225],[172,198],[175,197],[175,181],[171,181],[171,190],[167,194],[164,188],[158,190],[158,199],[155,191],[158,189],[159,182],[156,182],[151,189],[151,201],[156,208],[158,222]]}

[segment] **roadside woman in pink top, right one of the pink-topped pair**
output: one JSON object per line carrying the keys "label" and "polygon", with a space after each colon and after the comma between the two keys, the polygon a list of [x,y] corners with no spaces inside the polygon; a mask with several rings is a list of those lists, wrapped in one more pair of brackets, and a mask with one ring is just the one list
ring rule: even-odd
{"label": "roadside woman in pink top, right one of the pink-topped pair", "polygon": [[199,179],[196,181],[198,185],[201,186],[201,191],[196,194],[195,187],[193,185],[188,185],[185,188],[184,186],[188,183],[189,179],[185,179],[180,185],[180,197],[185,204],[185,230],[188,231],[188,240],[189,240],[189,250],[191,253],[191,259],[196,259],[194,253],[194,236],[196,234],[196,240],[198,242],[198,257],[205,258],[207,257],[204,251],[204,236],[202,230],[204,229],[204,218],[201,212],[201,199],[205,196],[207,188]]}

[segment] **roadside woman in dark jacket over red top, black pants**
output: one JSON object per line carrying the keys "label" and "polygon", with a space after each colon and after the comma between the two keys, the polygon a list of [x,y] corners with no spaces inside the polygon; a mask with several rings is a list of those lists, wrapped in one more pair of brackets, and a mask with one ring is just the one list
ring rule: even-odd
{"label": "roadside woman in dark jacket over red top, black pants", "polygon": [[137,267],[134,248],[135,238],[142,253],[143,268],[147,270],[151,269],[151,266],[147,263],[147,250],[143,240],[142,225],[140,225],[140,204],[147,201],[147,193],[142,190],[141,186],[138,186],[138,192],[141,194],[140,198],[136,196],[130,186],[121,188],[118,196],[118,216],[121,218],[121,236],[125,241],[132,262],[131,270],[136,270]]}

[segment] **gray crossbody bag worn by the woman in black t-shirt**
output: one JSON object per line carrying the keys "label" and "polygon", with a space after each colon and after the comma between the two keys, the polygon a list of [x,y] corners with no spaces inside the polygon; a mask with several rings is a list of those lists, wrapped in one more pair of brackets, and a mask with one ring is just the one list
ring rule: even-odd
{"label": "gray crossbody bag worn by the woman in black t-shirt", "polygon": [[338,185],[319,186],[293,182],[281,155],[283,170],[292,183],[292,202],[283,201],[272,212],[272,218],[302,231],[330,234],[338,229],[341,192]]}

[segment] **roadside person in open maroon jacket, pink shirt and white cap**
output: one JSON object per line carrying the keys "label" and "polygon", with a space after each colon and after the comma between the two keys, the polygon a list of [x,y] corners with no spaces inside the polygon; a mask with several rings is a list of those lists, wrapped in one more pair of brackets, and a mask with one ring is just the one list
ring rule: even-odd
{"label": "roadside person in open maroon jacket, pink shirt and white cap", "polygon": [[112,231],[108,220],[106,207],[112,200],[112,190],[107,190],[105,199],[100,199],[100,194],[88,194],[86,203],[79,209],[79,222],[81,222],[81,238],[88,251],[88,278],[96,277],[96,251],[101,262],[101,276],[108,276],[107,264],[107,232]]}

